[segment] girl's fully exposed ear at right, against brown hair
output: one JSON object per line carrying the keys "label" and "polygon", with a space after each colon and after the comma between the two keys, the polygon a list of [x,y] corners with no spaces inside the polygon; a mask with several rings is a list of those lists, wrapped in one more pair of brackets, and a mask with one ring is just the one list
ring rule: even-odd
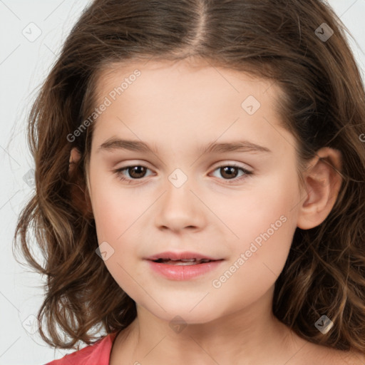
{"label": "girl's fully exposed ear at right, against brown hair", "polygon": [[309,230],[327,218],[341,188],[341,166],[341,152],[328,147],[309,162],[303,175],[307,196],[300,203],[297,227]]}

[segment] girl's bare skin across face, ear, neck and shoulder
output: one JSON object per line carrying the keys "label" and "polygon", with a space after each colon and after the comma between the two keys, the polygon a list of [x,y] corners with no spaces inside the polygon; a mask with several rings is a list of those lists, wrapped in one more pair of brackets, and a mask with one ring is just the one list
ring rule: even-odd
{"label": "girl's bare skin across face, ear, neck and shoulder", "polygon": [[[319,225],[336,201],[341,178],[330,165],[341,169],[339,151],[317,151],[301,187],[296,141],[274,112],[279,88],[209,63],[114,65],[99,78],[99,102],[135,68],[141,76],[95,122],[87,168],[98,242],[114,250],[105,264],[138,312],[115,339],[110,364],[170,364],[170,359],[177,365],[292,365],[314,359],[345,364],[349,354],[301,339],[272,314],[274,283],[296,227]],[[247,96],[261,103],[253,115],[241,107]],[[158,153],[98,150],[109,138],[142,140]],[[271,152],[198,150],[242,139]],[[73,149],[71,161],[79,157]],[[229,183],[219,167],[232,163],[252,175],[237,180],[242,171],[233,170],[237,178]],[[149,170],[139,180],[124,170],[130,184],[113,172],[136,165]],[[168,179],[176,168],[187,177],[181,187]],[[212,281],[283,215],[281,227],[230,279],[213,287]],[[168,250],[224,261],[201,277],[177,282],[151,271],[143,259]],[[169,326],[177,315],[187,324],[179,333]]]}

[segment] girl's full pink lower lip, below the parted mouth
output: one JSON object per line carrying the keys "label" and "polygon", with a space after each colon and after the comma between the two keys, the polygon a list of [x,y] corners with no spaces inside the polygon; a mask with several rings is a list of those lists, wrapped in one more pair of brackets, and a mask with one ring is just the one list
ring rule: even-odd
{"label": "girl's full pink lower lip, below the parted mouth", "polygon": [[220,259],[217,261],[205,262],[204,264],[176,265],[148,260],[151,269],[172,280],[189,280],[200,277],[201,275],[216,269],[222,261],[223,260]]}

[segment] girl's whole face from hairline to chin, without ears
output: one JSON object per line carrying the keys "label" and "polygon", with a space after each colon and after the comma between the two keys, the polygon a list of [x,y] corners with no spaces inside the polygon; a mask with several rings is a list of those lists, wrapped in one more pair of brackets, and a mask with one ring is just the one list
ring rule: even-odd
{"label": "girl's whole face from hairline to chin, without ears", "polygon": [[[274,112],[277,86],[185,60],[120,65],[97,89],[88,188],[102,256],[120,287],[156,317],[187,323],[272,291],[304,196],[294,136]],[[219,261],[146,259],[161,252]]]}

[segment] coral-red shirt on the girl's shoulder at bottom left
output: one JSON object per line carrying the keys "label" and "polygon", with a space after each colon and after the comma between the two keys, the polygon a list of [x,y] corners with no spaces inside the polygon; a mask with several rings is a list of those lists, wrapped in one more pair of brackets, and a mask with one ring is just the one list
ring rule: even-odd
{"label": "coral-red shirt on the girl's shoulder at bottom left", "polygon": [[46,365],[109,365],[111,348],[117,334],[118,331],[108,334],[95,344],[48,362]]}

